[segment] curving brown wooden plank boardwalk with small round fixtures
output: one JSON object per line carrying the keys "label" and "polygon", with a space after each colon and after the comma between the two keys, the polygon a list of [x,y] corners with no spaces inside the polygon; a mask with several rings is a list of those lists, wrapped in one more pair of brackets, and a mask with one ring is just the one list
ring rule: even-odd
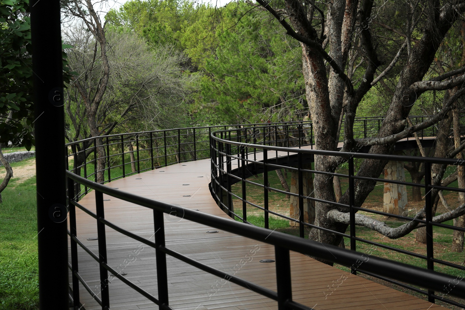
{"label": "curving brown wooden plank boardwalk with small round fixtures", "polygon": [[[272,157],[274,154],[270,152],[269,155]],[[215,204],[208,189],[209,182],[210,160],[206,159],[146,171],[113,181],[107,186],[228,218]],[[190,196],[183,197],[185,195]],[[151,210],[106,195],[104,199],[111,199],[104,202],[107,220],[142,237],[154,240]],[[93,191],[82,198],[80,204],[95,212]],[[78,238],[98,255],[97,241],[87,240],[97,236],[96,220],[76,208],[76,221]],[[274,263],[259,262],[261,259],[274,259],[273,246],[169,214],[165,214],[165,230],[168,248],[268,289],[276,290]],[[219,232],[206,233],[211,230]],[[115,269],[119,267],[126,273],[125,277],[157,297],[153,248],[108,227],[106,227],[106,237],[108,264]],[[98,264],[79,246],[78,252],[79,272],[95,294],[99,294]],[[173,257],[167,256],[167,265],[169,304],[174,309],[275,310],[278,308],[277,303],[269,298],[210,275]],[[315,310],[440,308],[438,305],[351,275],[296,252],[291,252],[291,272],[293,300]],[[158,309],[158,306],[147,301],[145,297],[116,277],[111,280],[109,290],[112,310]],[[82,285],[80,298],[86,310],[101,309]]]}

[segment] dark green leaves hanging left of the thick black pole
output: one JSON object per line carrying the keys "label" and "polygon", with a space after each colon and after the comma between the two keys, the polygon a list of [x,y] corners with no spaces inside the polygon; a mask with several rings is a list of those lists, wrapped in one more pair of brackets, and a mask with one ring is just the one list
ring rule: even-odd
{"label": "dark green leaves hanging left of the thick black pole", "polygon": [[33,76],[28,3],[28,0],[0,1],[0,115],[8,119],[0,123],[0,142],[12,141],[30,149]]}

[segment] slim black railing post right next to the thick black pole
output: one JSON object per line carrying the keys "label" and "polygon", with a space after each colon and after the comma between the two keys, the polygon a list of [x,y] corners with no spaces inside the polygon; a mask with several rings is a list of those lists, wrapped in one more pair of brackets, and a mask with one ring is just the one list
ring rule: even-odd
{"label": "slim black railing post right next to the thick black pole", "polygon": [[74,181],[68,178],[68,210],[69,210],[69,231],[71,234],[71,278],[73,281],[73,310],[79,309],[79,279],[76,274],[79,272],[78,266],[78,244],[73,239],[77,236],[76,229],[76,207],[72,204],[74,200]]}

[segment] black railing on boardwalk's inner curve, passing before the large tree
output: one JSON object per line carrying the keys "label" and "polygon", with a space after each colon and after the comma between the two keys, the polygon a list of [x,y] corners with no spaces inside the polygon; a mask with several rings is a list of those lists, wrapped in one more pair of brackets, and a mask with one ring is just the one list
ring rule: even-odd
{"label": "black railing on boardwalk's inner curve, passing before the large tree", "polygon": [[[254,127],[256,128],[256,127]],[[241,131],[246,132],[250,128],[242,128]],[[237,130],[232,130],[233,132],[237,132]],[[286,148],[286,147],[280,147],[280,146],[275,146],[272,145],[272,141],[270,145],[259,145],[259,144],[252,144],[252,143],[246,143],[242,142],[244,141],[245,134],[241,135],[240,133],[236,133],[234,136],[234,139],[228,139],[226,137],[230,136],[231,130],[220,130],[216,132],[212,132],[211,134],[211,147],[212,147],[212,191],[213,191],[213,196],[215,197],[215,200],[217,201],[218,205],[225,210],[231,216],[232,218],[239,218],[242,220],[244,223],[250,224],[246,220],[246,204],[252,205],[253,207],[256,207],[262,211],[264,211],[264,216],[265,216],[265,228],[268,228],[268,214],[274,214],[278,215],[281,218],[284,219],[290,219],[289,217],[285,215],[278,214],[276,212],[268,210],[268,190],[270,191],[276,191],[280,193],[286,193],[290,194],[292,196],[299,197],[299,219],[292,218],[296,223],[299,223],[299,229],[300,229],[300,237],[304,237],[304,226],[313,228],[313,229],[319,229],[323,231],[328,231],[332,232],[336,235],[344,236],[344,237],[349,237],[351,240],[351,250],[355,251],[356,250],[356,244],[355,241],[361,241],[365,242],[367,244],[373,244],[376,246],[380,246],[392,251],[398,251],[403,254],[411,255],[414,257],[419,257],[422,259],[425,259],[427,261],[427,266],[429,270],[433,270],[433,263],[439,263],[439,264],[444,264],[449,267],[453,268],[458,268],[460,270],[464,270],[464,268],[460,265],[449,263],[446,261],[438,260],[435,259],[432,255],[433,251],[433,240],[432,240],[432,227],[433,226],[438,226],[438,227],[445,227],[449,229],[454,229],[458,231],[465,231],[464,228],[460,227],[455,227],[452,225],[446,225],[446,224],[440,224],[440,223],[434,223],[432,222],[432,214],[431,214],[431,190],[432,189],[446,189],[448,191],[459,191],[459,192],[465,192],[465,189],[459,189],[459,188],[453,188],[453,187],[444,187],[444,186],[439,186],[439,185],[432,185],[432,180],[431,177],[431,165],[432,164],[440,164],[440,165],[465,165],[464,160],[457,160],[457,159],[448,159],[448,158],[430,158],[430,157],[416,157],[416,156],[401,156],[401,155],[384,155],[384,154],[369,154],[369,153],[357,153],[357,152],[338,152],[338,151],[322,151],[322,150],[313,150],[313,149],[302,149],[302,148]],[[234,148],[234,151],[233,150]],[[249,152],[246,152],[245,150],[249,150]],[[259,161],[255,158],[250,159],[250,154],[256,154],[257,152],[262,152],[264,159]],[[269,152],[276,152],[276,157],[275,158],[268,158],[268,153]],[[290,167],[289,165],[278,165],[277,160],[278,160],[278,152],[287,152],[288,156],[286,157],[286,161],[289,162],[290,157],[297,157],[298,158],[298,167]],[[293,155],[289,156],[290,153],[293,153]],[[349,174],[344,175],[340,173],[333,173],[333,172],[326,172],[326,171],[317,171],[317,170],[308,170],[308,169],[302,169],[302,158],[311,158],[312,156],[334,156],[334,157],[339,157],[339,158],[345,158],[345,161],[348,162],[349,164]],[[217,159],[218,158],[218,159]],[[412,183],[412,182],[403,182],[403,181],[391,181],[391,180],[385,180],[385,179],[379,179],[379,178],[368,178],[368,177],[362,177],[362,176],[357,176],[354,173],[354,163],[353,159],[354,158],[368,158],[368,159],[377,159],[377,160],[393,160],[393,161],[413,161],[413,162],[421,162],[424,163],[425,169],[426,169],[426,177],[425,177],[425,185],[419,185],[417,183]],[[231,163],[233,161],[238,161],[238,168],[232,169]],[[276,161],[273,161],[276,160]],[[271,163],[271,161],[273,161]],[[240,165],[239,165],[240,163]],[[258,184],[249,180],[246,180],[246,173],[245,170],[246,167],[254,167],[254,173],[256,174],[257,171],[261,172],[263,171],[264,173],[264,184]],[[261,167],[261,170],[257,168],[257,166]],[[318,198],[312,198],[312,197],[306,197],[303,195],[302,192],[299,193],[290,193],[288,191],[282,191],[278,190],[275,188],[272,188],[270,186],[267,186],[268,183],[268,176],[266,171],[269,170],[276,170],[276,169],[281,169],[281,168],[286,168],[290,170],[297,171],[299,174],[299,182],[301,182],[301,177],[303,172],[311,172],[311,173],[322,173],[330,176],[339,176],[339,177],[346,177],[349,179],[349,188],[348,188],[348,193],[349,193],[349,205],[347,204],[340,204],[337,202],[333,201],[325,201],[321,200]],[[387,182],[387,183],[395,183],[395,184],[400,184],[400,185],[411,185],[411,186],[420,186],[425,188],[426,192],[426,219],[424,220],[423,218],[408,218],[402,215],[394,215],[390,213],[385,213],[381,211],[374,211],[374,210],[369,210],[365,208],[360,208],[357,206],[354,206],[353,201],[354,201],[354,181],[356,179],[359,180],[374,180],[374,181],[381,181],[381,182]],[[242,181],[242,197],[239,195],[233,193],[231,191],[231,185],[234,183]],[[253,184],[257,185],[260,188],[263,188],[264,190],[264,207],[258,206],[256,204],[250,203],[248,200],[246,200],[246,186],[245,184]],[[299,190],[302,188],[302,185],[299,184]],[[225,198],[226,196],[226,198]],[[243,203],[243,210],[242,210],[242,217],[237,215],[234,212],[233,209],[233,204],[232,204],[232,197],[238,198],[239,200],[242,201]],[[226,199],[226,201],[224,201]],[[333,204],[333,205],[340,205],[340,206],[345,206],[349,207],[349,214],[350,214],[350,235],[346,235],[344,233],[338,232],[338,231],[330,231],[329,229],[325,229],[319,226],[316,226],[314,224],[306,223],[304,222],[303,218],[303,199],[308,199],[308,200],[313,200],[313,201],[320,201],[323,203],[327,204]],[[355,235],[355,212],[363,210],[365,212],[371,212],[371,213],[376,213],[384,216],[389,216],[389,217],[394,217],[394,218],[400,218],[400,219],[405,219],[409,221],[414,221],[418,222],[421,224],[424,224],[427,229],[427,255],[422,256],[418,255],[416,253],[410,252],[410,251],[405,251],[397,248],[393,248],[384,244],[372,242],[370,240],[365,240],[363,238],[356,237]],[[355,270],[352,270],[355,271]],[[362,272],[365,272],[363,270],[359,270]],[[370,274],[372,276],[379,276],[380,278],[389,278],[389,276],[383,276],[381,274],[377,275],[376,271],[368,271],[365,272],[367,274]],[[392,282],[393,280],[391,280]],[[409,283],[408,281],[405,281]],[[402,283],[397,283],[401,286],[404,286],[406,288],[412,289],[410,285],[402,284]],[[410,283],[412,284],[412,283]],[[418,290],[417,290],[418,291]],[[452,300],[445,299],[443,297],[438,297],[437,295],[434,294],[434,291],[430,290],[428,292],[421,291],[423,294],[428,295],[429,300],[431,302],[434,302],[434,299],[441,299],[445,302],[452,303],[454,305],[459,305],[460,307],[464,307],[464,305],[461,305],[460,303],[456,303]]]}

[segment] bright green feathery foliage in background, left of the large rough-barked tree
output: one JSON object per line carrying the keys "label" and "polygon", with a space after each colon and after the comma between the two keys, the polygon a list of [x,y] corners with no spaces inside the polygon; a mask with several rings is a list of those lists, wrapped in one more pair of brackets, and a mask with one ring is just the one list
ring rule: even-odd
{"label": "bright green feathery foliage in background, left of the large rough-barked tree", "polygon": [[244,2],[223,8],[214,40],[207,18],[186,29],[186,53],[205,72],[195,109],[213,108],[230,123],[302,119],[301,47],[279,25],[264,27],[264,13],[248,10]]}

